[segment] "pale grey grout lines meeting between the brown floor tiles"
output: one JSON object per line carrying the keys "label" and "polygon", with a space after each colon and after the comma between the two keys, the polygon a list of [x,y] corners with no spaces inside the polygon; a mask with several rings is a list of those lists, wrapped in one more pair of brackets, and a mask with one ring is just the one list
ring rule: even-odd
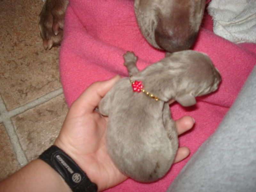
{"label": "pale grey grout lines meeting between the brown floor tiles", "polygon": [[18,115],[20,113],[23,113],[27,111],[28,109],[34,108],[40,104],[43,104],[57,96],[63,93],[62,87],[54,90],[52,92],[49,92],[42,97],[37,98],[36,100],[33,100],[25,105],[22,105],[18,108],[12,109],[8,111],[5,107],[4,100],[1,97],[0,94],[0,123],[4,123],[5,130],[7,132],[7,135],[10,138],[10,142],[12,144],[14,153],[16,154],[17,160],[20,163],[21,166],[24,166],[28,163],[28,159],[20,145],[19,137],[16,133],[15,127],[12,123],[11,117]]}

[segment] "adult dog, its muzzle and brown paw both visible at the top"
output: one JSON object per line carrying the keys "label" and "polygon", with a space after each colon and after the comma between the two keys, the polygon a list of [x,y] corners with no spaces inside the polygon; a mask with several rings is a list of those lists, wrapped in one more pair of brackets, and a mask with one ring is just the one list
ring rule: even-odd
{"label": "adult dog, its muzzle and brown paw both visible at the top", "polygon": [[[68,0],[46,0],[39,15],[45,49],[59,45]],[[194,43],[205,0],[134,0],[135,16],[149,44],[168,52],[186,50]]]}

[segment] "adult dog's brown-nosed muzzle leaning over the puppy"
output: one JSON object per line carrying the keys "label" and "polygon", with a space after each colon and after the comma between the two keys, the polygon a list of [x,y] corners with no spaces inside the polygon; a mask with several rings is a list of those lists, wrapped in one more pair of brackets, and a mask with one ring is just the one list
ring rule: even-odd
{"label": "adult dog's brown-nosed muzzle leaning over the puppy", "polygon": [[189,49],[199,30],[205,0],[135,0],[140,31],[158,49]]}

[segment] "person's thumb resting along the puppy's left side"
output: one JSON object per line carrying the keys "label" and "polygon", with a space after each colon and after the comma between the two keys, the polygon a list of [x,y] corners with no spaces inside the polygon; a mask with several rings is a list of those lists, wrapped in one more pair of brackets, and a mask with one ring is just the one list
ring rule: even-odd
{"label": "person's thumb resting along the puppy's left side", "polygon": [[[72,104],[77,113],[92,113],[104,95],[120,79],[120,76],[114,76],[107,81],[100,81],[91,84]],[[71,109],[70,108],[70,109]]]}

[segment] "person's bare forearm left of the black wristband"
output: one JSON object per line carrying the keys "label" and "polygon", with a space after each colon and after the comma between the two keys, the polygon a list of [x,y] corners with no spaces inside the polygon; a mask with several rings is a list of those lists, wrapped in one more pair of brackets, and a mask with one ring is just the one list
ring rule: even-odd
{"label": "person's bare forearm left of the black wristband", "polygon": [[59,174],[41,159],[35,159],[1,181],[0,191],[71,192]]}

